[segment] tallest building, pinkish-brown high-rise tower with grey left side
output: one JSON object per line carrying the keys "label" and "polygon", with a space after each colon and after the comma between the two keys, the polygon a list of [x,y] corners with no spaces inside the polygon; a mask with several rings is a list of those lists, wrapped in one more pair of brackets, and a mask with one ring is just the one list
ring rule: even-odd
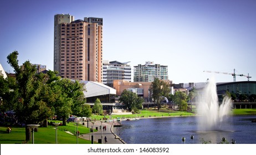
{"label": "tallest building, pinkish-brown high-rise tower with grey left side", "polygon": [[103,18],[54,16],[54,70],[60,76],[102,82]]}

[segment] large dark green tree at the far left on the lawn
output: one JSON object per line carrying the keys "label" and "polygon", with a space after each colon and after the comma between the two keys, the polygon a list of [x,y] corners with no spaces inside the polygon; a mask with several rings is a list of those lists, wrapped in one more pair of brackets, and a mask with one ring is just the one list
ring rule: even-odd
{"label": "large dark green tree at the far left on the lawn", "polygon": [[[1,80],[2,100],[4,110],[14,110],[19,122],[38,124],[53,115],[52,108],[42,100],[43,90],[46,89],[46,77],[36,74],[36,68],[29,61],[18,65],[18,51],[7,56],[7,62],[14,68],[16,78],[8,77]],[[26,128],[26,141],[30,139],[30,130]]]}

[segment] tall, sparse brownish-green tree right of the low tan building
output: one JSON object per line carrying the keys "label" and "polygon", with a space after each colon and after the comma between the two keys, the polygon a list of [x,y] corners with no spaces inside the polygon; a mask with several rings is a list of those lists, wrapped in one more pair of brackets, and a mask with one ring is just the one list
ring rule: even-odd
{"label": "tall, sparse brownish-green tree right of the low tan building", "polygon": [[163,100],[163,97],[169,96],[170,87],[168,82],[159,80],[156,77],[150,85],[150,92],[151,92],[152,99],[155,102],[155,107],[157,106],[158,110],[160,110],[161,100]]}

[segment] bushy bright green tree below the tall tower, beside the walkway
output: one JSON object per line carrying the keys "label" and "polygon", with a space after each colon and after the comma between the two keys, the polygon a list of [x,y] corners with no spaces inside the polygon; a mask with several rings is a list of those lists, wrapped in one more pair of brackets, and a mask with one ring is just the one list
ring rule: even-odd
{"label": "bushy bright green tree below the tall tower, beside the walkway", "polygon": [[91,116],[91,108],[85,105],[85,85],[78,80],[61,79],[57,71],[48,71],[47,86],[44,100],[54,109],[55,114],[62,118],[66,125],[69,115],[78,117]]}

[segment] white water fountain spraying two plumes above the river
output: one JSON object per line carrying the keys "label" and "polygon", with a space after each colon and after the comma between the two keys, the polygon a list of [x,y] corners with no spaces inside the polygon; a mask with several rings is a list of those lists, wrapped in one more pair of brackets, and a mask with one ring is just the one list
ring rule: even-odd
{"label": "white water fountain spraying two plumes above the river", "polygon": [[201,96],[198,98],[198,130],[222,130],[221,125],[231,110],[232,100],[226,96],[224,97],[222,104],[219,105],[214,79],[207,82]]}

